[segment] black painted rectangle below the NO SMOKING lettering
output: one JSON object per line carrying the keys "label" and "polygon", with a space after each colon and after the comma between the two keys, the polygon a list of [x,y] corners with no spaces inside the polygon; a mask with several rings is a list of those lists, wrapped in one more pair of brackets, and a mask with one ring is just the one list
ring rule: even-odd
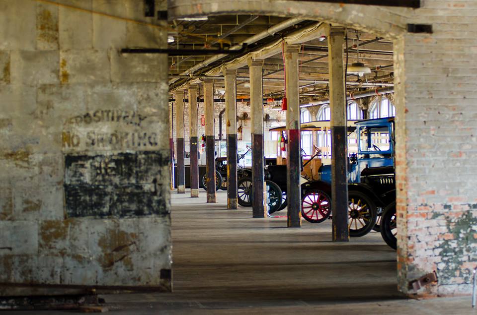
{"label": "black painted rectangle below the NO SMOKING lettering", "polygon": [[166,215],[162,168],[169,157],[159,151],[67,154],[65,200],[68,217]]}

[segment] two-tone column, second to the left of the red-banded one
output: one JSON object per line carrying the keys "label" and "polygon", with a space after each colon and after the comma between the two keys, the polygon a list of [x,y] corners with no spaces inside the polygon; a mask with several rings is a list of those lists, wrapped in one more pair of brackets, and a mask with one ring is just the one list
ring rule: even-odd
{"label": "two-tone column, second to the left of the red-banded one", "polygon": [[237,70],[224,70],[227,131],[227,209],[237,209]]}

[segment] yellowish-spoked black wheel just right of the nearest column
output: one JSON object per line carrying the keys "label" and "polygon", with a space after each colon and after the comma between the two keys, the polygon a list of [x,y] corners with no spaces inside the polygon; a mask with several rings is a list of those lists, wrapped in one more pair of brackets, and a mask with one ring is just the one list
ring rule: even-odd
{"label": "yellowish-spoked black wheel just right of the nearest column", "polygon": [[350,191],[348,193],[349,236],[364,236],[375,224],[376,206],[373,200],[360,191]]}

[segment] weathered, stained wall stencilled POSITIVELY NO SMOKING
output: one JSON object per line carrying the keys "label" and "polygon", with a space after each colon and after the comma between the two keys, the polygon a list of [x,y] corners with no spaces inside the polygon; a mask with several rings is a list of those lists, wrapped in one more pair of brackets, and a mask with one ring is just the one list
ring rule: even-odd
{"label": "weathered, stained wall stencilled POSITIVELY NO SMOKING", "polygon": [[0,295],[170,290],[165,21],[60,2],[0,0]]}

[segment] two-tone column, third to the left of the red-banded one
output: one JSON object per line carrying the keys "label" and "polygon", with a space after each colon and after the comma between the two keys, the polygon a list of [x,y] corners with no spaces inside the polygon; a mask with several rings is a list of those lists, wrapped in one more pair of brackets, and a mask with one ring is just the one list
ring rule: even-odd
{"label": "two-tone column, third to the left of the red-banded one", "polygon": [[215,131],[214,131],[214,81],[204,81],[205,102],[205,157],[207,165],[207,203],[216,202],[215,185]]}

